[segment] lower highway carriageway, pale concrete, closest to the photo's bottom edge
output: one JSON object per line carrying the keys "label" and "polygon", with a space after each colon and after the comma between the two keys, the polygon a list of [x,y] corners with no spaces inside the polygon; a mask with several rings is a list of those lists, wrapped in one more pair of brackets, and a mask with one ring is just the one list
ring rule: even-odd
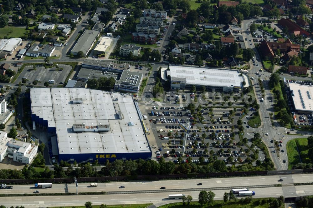
{"label": "lower highway carriageway, pale concrete, closest to the photo's bottom edge", "polygon": [[[214,190],[215,199],[223,200],[224,192],[230,189]],[[291,196],[307,196],[312,195],[313,185],[308,186],[284,186],[270,188],[254,188],[254,198],[262,197],[291,197]],[[193,201],[198,201],[199,191],[181,191],[179,193],[191,195]],[[130,193],[115,195],[84,195],[84,196],[23,196],[23,197],[0,197],[0,204],[4,206],[20,206],[28,207],[46,207],[46,206],[82,206],[86,201],[91,201],[93,205],[117,205],[117,204],[143,204],[153,203],[156,207],[162,204],[179,202],[181,200],[168,200],[169,194],[178,194],[177,192],[156,192],[156,193]],[[126,200],[127,199],[127,200]]]}

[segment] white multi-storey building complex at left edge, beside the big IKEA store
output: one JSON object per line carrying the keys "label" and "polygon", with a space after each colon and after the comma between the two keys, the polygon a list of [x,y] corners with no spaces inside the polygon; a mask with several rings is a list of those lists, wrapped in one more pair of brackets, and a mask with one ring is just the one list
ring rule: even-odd
{"label": "white multi-storey building complex at left edge, beside the big IKEA store", "polygon": [[0,162],[8,156],[13,161],[30,164],[38,152],[38,145],[15,140],[8,133],[0,131]]}

